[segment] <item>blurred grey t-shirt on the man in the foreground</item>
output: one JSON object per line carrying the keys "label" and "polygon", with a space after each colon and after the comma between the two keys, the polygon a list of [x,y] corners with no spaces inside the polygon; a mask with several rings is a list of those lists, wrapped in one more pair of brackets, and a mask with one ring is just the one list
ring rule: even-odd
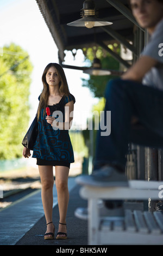
{"label": "blurred grey t-shirt on the man in the foreground", "polygon": [[156,59],[158,64],[144,76],[142,84],[163,90],[163,19],[158,23],[141,56]]}

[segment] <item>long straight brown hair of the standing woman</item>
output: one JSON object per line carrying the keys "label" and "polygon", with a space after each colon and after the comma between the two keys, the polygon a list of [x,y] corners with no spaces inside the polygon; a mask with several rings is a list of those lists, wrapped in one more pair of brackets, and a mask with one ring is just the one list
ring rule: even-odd
{"label": "long straight brown hair of the standing woman", "polygon": [[60,92],[60,94],[61,95],[63,94],[65,96],[68,96],[68,94],[70,94],[64,69],[62,69],[62,67],[58,63],[49,63],[46,66],[46,68],[44,69],[43,74],[42,74],[43,90],[42,90],[42,93],[40,95],[40,104],[39,104],[39,108],[37,110],[37,120],[39,120],[41,109],[43,108],[44,113],[45,113],[45,109],[48,105],[49,85],[47,84],[47,81],[46,81],[46,74],[47,74],[49,68],[51,68],[51,67],[55,67],[56,70],[57,70],[57,75],[60,79],[60,82],[59,82],[59,92]]}

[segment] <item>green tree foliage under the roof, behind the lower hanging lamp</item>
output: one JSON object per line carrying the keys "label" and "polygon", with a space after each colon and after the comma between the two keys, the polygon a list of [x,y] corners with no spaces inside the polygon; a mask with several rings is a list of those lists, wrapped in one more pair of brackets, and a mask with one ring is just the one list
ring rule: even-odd
{"label": "green tree foliage under the roof, behind the lower hanging lamp", "polygon": [[[114,45],[109,45],[109,48],[116,53],[120,52],[120,46],[116,43]],[[93,58],[96,56],[101,60],[102,68],[103,69],[112,69],[112,70],[119,70],[120,63],[116,61],[114,57],[110,55],[108,52],[104,52],[102,47],[93,47],[88,49],[83,49],[85,54],[86,62],[93,62]],[[104,76],[95,76],[90,75],[90,79],[82,79],[83,86],[88,87],[91,92],[93,92],[95,97],[103,97],[105,92],[105,87],[108,81],[115,76],[112,75],[104,75]]]}

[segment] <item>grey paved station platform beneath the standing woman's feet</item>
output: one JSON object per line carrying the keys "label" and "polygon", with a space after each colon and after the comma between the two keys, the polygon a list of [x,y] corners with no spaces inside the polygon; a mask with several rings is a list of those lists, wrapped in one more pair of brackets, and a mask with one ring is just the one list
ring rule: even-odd
{"label": "grey paved station platform beneath the standing woman's feet", "polygon": [[[70,201],[67,212],[67,240],[44,240],[46,220],[41,201],[41,190],[13,203],[0,212],[0,245],[87,245],[87,221],[74,216],[78,207],[87,207],[80,198],[80,186],[74,177],[68,179]],[[57,190],[53,188],[53,222],[58,231],[59,211]]]}

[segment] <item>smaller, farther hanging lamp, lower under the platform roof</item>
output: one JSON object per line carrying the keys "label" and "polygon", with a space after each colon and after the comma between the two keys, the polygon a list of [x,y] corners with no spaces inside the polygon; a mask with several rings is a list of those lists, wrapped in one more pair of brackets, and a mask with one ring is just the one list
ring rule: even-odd
{"label": "smaller, farther hanging lamp, lower under the platform roof", "polygon": [[89,75],[110,75],[111,72],[107,69],[102,69],[101,67],[101,61],[99,58],[94,58],[93,59],[93,63],[92,63],[92,67],[85,69],[83,71],[83,73],[85,74],[89,74]]}

